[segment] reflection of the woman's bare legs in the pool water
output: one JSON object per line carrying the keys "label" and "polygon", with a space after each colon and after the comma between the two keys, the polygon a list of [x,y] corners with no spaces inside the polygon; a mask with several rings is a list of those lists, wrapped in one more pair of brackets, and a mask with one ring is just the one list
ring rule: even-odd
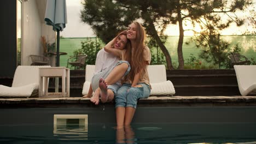
{"label": "reflection of the woman's bare legs in the pool water", "polygon": [[117,129],[117,143],[137,143],[135,133],[130,126]]}

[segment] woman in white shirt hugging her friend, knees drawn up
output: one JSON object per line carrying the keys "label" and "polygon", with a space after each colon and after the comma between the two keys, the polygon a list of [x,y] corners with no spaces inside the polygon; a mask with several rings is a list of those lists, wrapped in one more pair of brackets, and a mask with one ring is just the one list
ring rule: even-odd
{"label": "woman in white shirt hugging her friend, knees drawn up", "polygon": [[92,91],[94,91],[91,102],[95,105],[100,102],[100,97],[102,103],[112,101],[121,86],[121,78],[130,71],[130,64],[125,61],[125,57],[126,50],[131,49],[131,43],[126,38],[126,35],[126,31],[119,33],[117,37],[105,46],[108,49],[115,49],[114,54],[105,51],[107,49],[102,49],[97,53],[95,73],[91,80],[90,89],[88,94],[83,97],[90,98]]}

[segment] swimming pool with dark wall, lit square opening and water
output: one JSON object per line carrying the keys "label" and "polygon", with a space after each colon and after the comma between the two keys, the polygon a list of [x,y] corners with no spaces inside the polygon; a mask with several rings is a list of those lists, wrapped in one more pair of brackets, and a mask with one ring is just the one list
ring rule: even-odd
{"label": "swimming pool with dark wall, lit square opening and water", "polygon": [[113,107],[8,108],[0,109],[0,143],[256,143],[255,112],[139,107],[131,127],[116,129]]}

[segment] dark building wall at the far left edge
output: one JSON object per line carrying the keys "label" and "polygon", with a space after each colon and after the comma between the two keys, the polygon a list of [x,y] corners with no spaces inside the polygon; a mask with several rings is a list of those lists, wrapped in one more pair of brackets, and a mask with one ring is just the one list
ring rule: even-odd
{"label": "dark building wall at the far left edge", "polygon": [[0,4],[0,77],[13,76],[17,65],[16,0]]}

